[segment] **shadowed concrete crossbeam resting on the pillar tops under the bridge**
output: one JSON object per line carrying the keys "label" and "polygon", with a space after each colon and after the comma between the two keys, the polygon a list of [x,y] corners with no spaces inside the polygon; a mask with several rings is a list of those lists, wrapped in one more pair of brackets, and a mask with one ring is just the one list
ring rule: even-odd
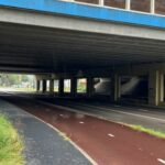
{"label": "shadowed concrete crossbeam resting on the pillar tops under the bridge", "polygon": [[[142,76],[147,75],[152,70],[160,70],[165,73],[165,63],[151,63],[151,64],[130,64],[120,65],[105,68],[94,68],[82,70],[81,77],[107,77],[109,78],[113,74],[128,75],[128,76]],[[57,73],[57,77],[70,78],[77,77],[77,73]]]}

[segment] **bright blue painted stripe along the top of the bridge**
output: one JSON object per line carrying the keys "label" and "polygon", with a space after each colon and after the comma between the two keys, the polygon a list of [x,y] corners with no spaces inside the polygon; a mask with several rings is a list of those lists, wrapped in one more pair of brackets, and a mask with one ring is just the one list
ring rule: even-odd
{"label": "bright blue painted stripe along the top of the bridge", "polygon": [[165,29],[165,18],[58,0],[0,0],[0,6]]}

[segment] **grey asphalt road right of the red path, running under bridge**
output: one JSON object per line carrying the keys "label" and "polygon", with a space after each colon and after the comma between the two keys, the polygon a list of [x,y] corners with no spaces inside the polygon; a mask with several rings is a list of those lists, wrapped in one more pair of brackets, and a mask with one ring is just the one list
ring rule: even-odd
{"label": "grey asphalt road right of the red path, running under bridge", "polygon": [[148,129],[165,132],[165,109],[123,107],[99,102],[68,101],[61,99],[48,99],[47,101],[82,112],[95,113],[98,117],[114,122],[143,125]]}

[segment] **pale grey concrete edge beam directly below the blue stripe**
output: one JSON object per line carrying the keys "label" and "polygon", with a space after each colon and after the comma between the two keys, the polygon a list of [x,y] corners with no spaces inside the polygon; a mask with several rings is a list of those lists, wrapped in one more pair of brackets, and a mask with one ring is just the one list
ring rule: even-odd
{"label": "pale grey concrete edge beam directly below the blue stripe", "polygon": [[24,25],[165,41],[165,33],[162,29],[151,29],[117,22],[103,22],[99,20],[4,7],[0,7],[0,15],[1,23],[19,23]]}

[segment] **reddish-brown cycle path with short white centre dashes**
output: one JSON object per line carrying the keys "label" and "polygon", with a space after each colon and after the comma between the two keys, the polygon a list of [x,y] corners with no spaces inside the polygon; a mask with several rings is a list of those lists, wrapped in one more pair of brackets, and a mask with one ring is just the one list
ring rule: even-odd
{"label": "reddish-brown cycle path with short white centre dashes", "polygon": [[161,165],[165,162],[165,140],[34,100],[12,102],[65,132],[99,165]]}

